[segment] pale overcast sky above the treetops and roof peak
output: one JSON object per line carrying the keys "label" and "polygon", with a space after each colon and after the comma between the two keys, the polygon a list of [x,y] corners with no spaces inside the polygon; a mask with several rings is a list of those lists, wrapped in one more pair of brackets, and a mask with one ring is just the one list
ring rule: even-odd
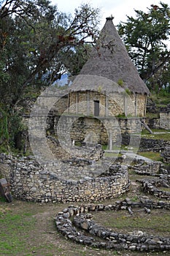
{"label": "pale overcast sky above the treetops and roof peak", "polygon": [[[169,4],[169,0],[162,0],[163,3]],[[101,10],[101,27],[104,26],[105,18],[113,15],[114,24],[126,20],[126,15],[135,17],[135,10],[147,11],[151,4],[159,5],[158,0],[51,0],[58,6],[62,12],[71,12],[74,15],[74,9],[80,4],[88,3],[92,7],[98,7]]]}

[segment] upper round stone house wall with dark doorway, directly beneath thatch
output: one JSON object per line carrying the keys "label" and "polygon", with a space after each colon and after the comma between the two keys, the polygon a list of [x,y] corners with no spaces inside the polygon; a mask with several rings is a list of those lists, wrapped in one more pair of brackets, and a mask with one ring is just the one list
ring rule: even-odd
{"label": "upper round stone house wall with dark doorway, directly beneath thatch", "polygon": [[[94,115],[94,100],[100,102],[100,116],[144,116],[146,95],[112,93],[109,96],[100,91],[76,91],[69,94],[70,113]],[[60,107],[58,107],[60,108]]]}

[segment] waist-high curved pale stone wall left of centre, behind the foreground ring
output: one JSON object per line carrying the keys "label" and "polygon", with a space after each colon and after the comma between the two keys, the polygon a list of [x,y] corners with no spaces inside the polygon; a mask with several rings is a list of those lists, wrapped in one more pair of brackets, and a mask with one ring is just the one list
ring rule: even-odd
{"label": "waist-high curved pale stone wall left of centre, behind the foreground ring", "polygon": [[[21,200],[42,203],[106,200],[127,192],[130,185],[128,170],[121,166],[115,175],[110,177],[88,176],[72,181],[58,178],[59,170],[43,169],[34,159],[17,159],[1,154],[1,163],[9,165],[12,196]],[[69,166],[67,167],[69,169]],[[89,167],[87,165],[88,171]],[[91,167],[93,168],[93,165]],[[82,166],[77,168],[82,170]],[[63,172],[62,169],[60,171]]]}

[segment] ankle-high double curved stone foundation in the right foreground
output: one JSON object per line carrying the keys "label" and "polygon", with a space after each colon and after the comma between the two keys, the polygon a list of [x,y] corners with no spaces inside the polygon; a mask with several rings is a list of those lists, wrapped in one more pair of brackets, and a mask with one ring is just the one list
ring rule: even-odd
{"label": "ankle-high double curved stone foundation in the right foreground", "polygon": [[[140,202],[131,202],[128,198],[123,201],[118,201],[115,204],[104,205],[82,205],[79,207],[69,206],[63,209],[62,212],[55,216],[56,227],[65,238],[69,238],[74,242],[84,244],[86,246],[94,246],[104,249],[128,249],[131,251],[169,251],[170,238],[159,236],[148,236],[142,231],[123,234],[117,233],[114,230],[107,229],[97,225],[91,220],[92,214],[95,211],[128,211],[133,214],[133,208],[143,208],[147,214],[150,214],[152,208],[170,209],[170,203],[158,202],[141,198]],[[75,217],[76,216],[76,217]],[[71,221],[71,218],[73,221]],[[116,220],[115,220],[116,221]],[[78,227],[79,229],[77,230]],[[81,232],[85,230],[89,234]],[[101,240],[102,239],[102,240]]]}

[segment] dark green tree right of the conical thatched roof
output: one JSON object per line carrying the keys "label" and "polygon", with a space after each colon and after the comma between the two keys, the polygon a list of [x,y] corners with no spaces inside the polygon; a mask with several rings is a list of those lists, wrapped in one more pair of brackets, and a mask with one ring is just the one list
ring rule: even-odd
{"label": "dark green tree right of the conical thatched roof", "polygon": [[141,78],[149,85],[154,82],[150,87],[155,89],[158,73],[169,66],[166,42],[170,35],[170,8],[160,2],[160,6],[152,4],[148,12],[135,12],[136,18],[128,17],[126,23],[118,25],[118,31]]}

